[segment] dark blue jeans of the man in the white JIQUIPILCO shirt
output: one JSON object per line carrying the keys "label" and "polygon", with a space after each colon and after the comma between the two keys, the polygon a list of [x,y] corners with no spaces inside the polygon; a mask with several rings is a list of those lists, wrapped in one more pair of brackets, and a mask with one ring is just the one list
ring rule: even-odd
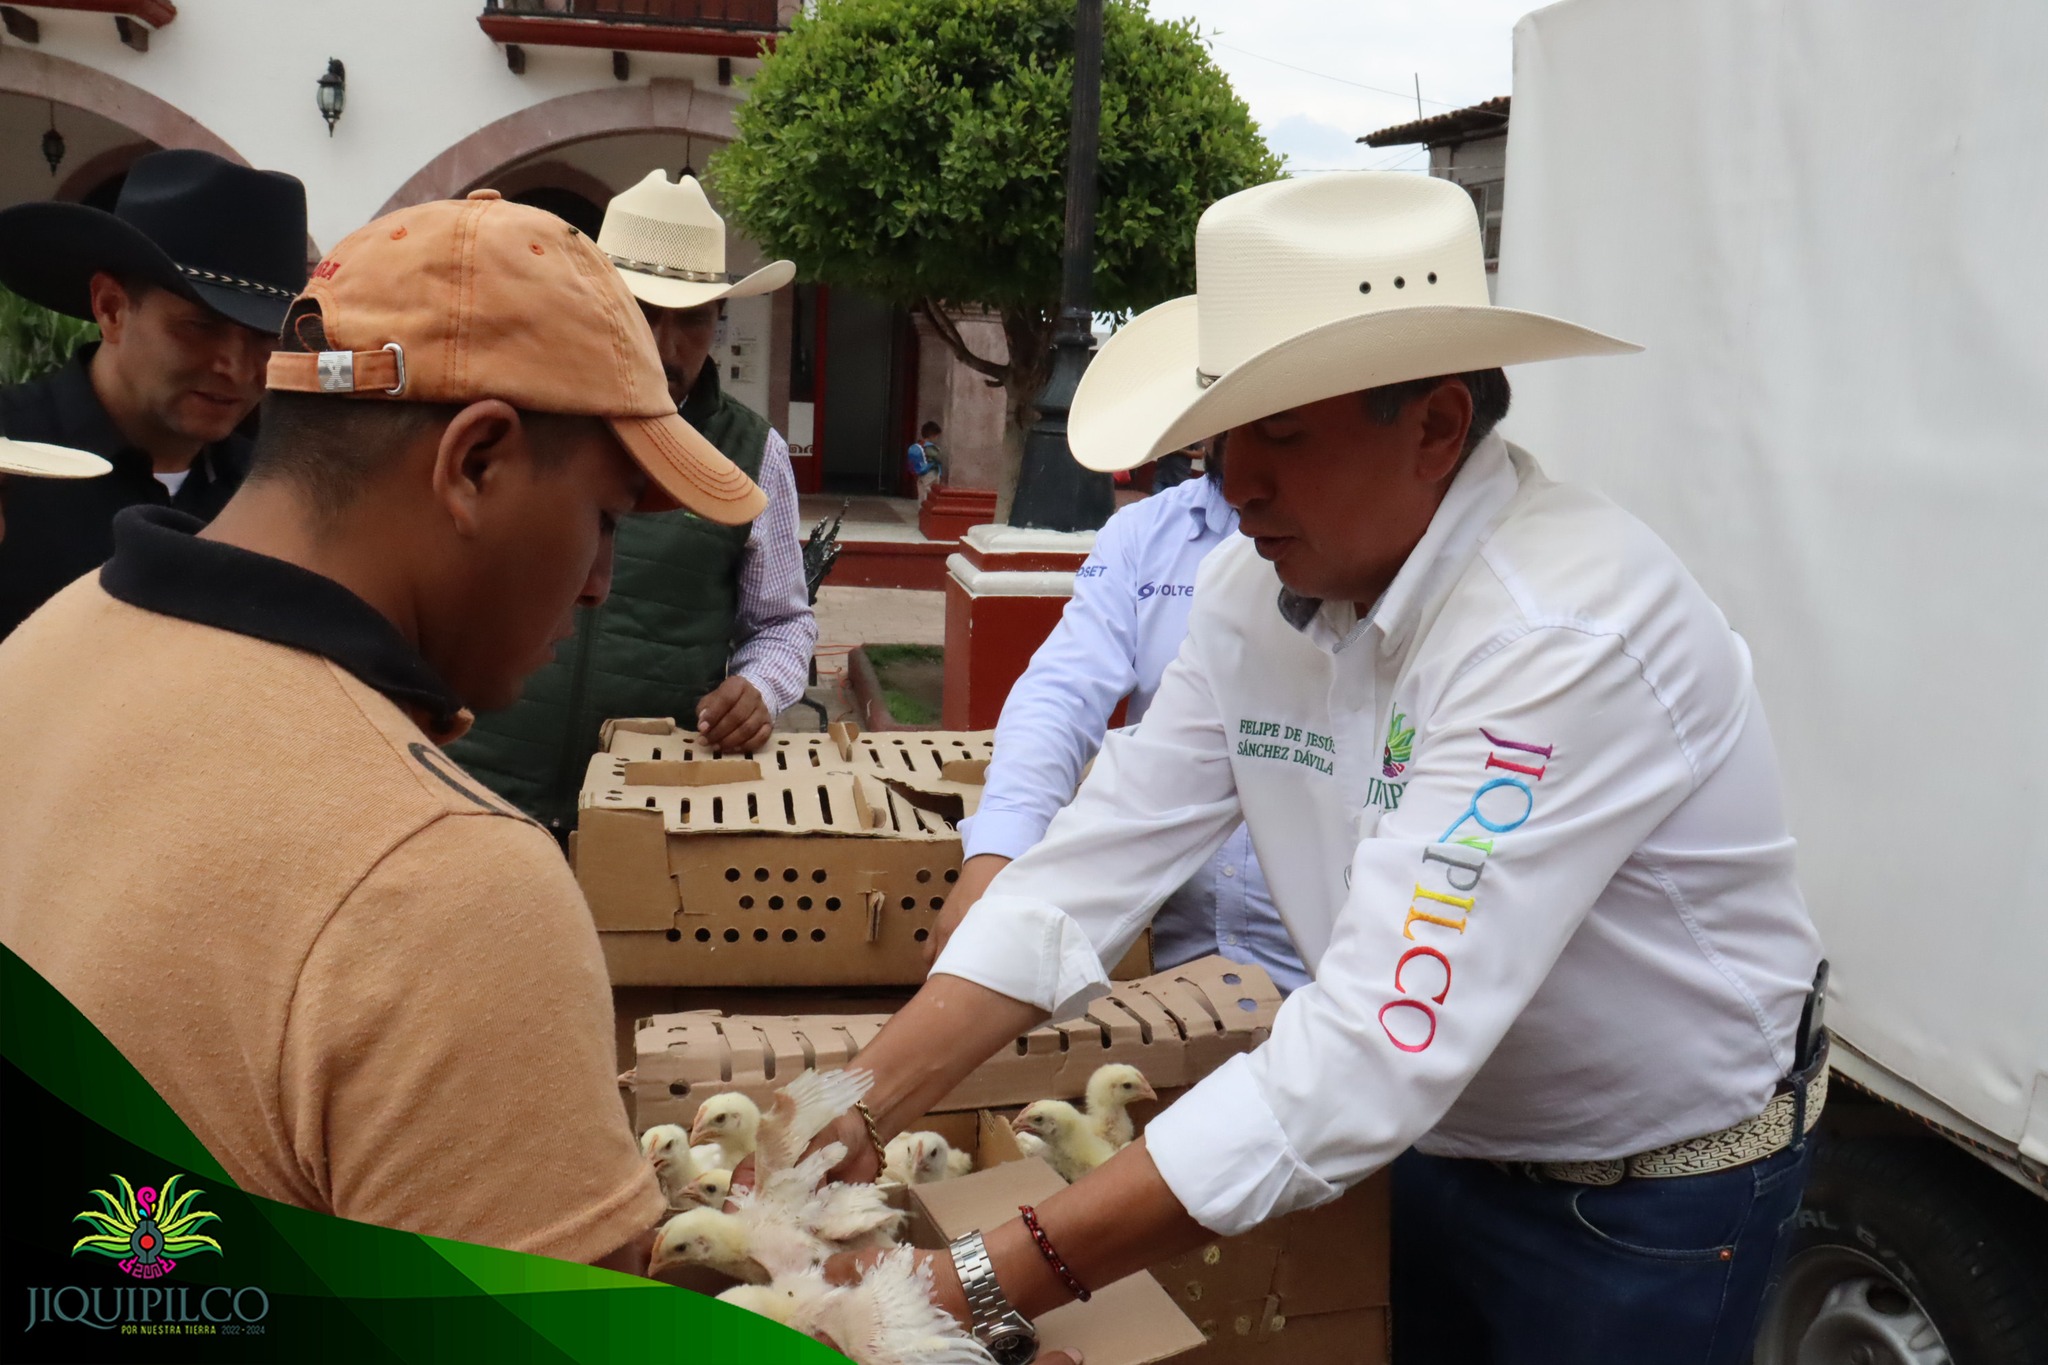
{"label": "dark blue jeans of the man in the white JIQUIPILCO shirt", "polygon": [[1810,1152],[1606,1187],[1405,1154],[1395,1365],[1741,1365]]}

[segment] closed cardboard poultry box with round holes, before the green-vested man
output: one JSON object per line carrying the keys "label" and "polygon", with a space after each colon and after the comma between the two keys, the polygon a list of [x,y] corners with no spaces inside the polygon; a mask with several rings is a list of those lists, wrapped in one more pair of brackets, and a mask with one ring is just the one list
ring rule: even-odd
{"label": "closed cardboard poultry box with round holes, before the green-vested man", "polygon": [[674,720],[610,720],[575,878],[618,986],[909,986],[961,870],[989,733],[776,735],[715,757]]}

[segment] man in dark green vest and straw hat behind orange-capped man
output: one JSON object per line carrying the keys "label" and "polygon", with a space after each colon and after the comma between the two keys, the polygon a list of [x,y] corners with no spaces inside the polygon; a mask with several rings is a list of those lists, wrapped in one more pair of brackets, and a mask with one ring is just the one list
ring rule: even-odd
{"label": "man in dark green vest and straw hat behind orange-capped man", "polygon": [[575,827],[575,794],[604,720],[694,716],[719,751],[750,753],[803,696],[817,645],[788,444],[719,389],[711,362],[725,299],[782,289],[797,268],[778,260],[729,276],[725,219],[694,176],[672,184],[662,170],[612,199],[598,250],[653,327],[678,411],[762,485],[768,508],[752,526],[688,512],[627,518],[604,606],[578,612],[575,639],[526,681],[518,704],[481,716],[451,745],[463,767],[557,837]]}

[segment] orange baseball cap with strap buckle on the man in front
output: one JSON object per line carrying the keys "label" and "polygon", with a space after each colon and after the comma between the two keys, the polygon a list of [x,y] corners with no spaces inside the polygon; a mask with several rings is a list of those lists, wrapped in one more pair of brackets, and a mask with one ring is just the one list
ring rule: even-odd
{"label": "orange baseball cap with strap buckle on the man in front", "polygon": [[647,471],[639,512],[688,508],[741,526],[768,505],[676,413],[653,332],[612,262],[498,190],[399,209],[342,237],[291,305],[266,385],[604,417]]}

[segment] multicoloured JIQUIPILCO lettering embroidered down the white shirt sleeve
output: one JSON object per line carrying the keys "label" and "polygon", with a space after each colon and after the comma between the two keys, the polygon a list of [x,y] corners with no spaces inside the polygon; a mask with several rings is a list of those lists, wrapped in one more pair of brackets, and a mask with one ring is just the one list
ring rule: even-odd
{"label": "multicoloured JIQUIPILCO lettering embroidered down the white shirt sleeve", "polygon": [[[1397,995],[1380,1005],[1378,1015],[1386,1042],[1401,1052],[1427,1052],[1430,1044],[1436,1042],[1434,1007],[1444,1005],[1450,997],[1450,954],[1444,948],[1456,945],[1456,939],[1446,937],[1446,933],[1464,935],[1464,927],[1479,907],[1479,878],[1487,870],[1487,860],[1493,857],[1495,839],[1481,839],[1479,835],[1497,837],[1522,829],[1530,814],[1536,812],[1536,788],[1530,784],[1542,782],[1542,776],[1550,772],[1554,745],[1501,739],[1487,729],[1479,733],[1495,749],[1505,749],[1511,755],[1536,755],[1542,763],[1532,765],[1520,757],[1501,757],[1489,751],[1485,772],[1513,772],[1528,778],[1528,782],[1522,778],[1489,778],[1481,782],[1479,790],[1473,792],[1473,800],[1466,802],[1464,812],[1452,821],[1450,829],[1436,843],[1421,851],[1421,872],[1415,880],[1415,892],[1409,896],[1407,919],[1401,923],[1401,937],[1415,943],[1415,948],[1409,948],[1395,962]],[[1487,802],[1487,796],[1493,796],[1493,800]],[[1516,812],[1516,796],[1522,796],[1520,812]],[[1516,812],[1513,819],[1497,819],[1509,812]],[[1454,839],[1466,825],[1477,825],[1479,829]],[[1423,886],[1423,880],[1440,880],[1442,890]],[[1444,948],[1421,941],[1415,935],[1417,925],[1423,927],[1423,933],[1442,941]],[[1417,962],[1425,962],[1425,966],[1415,966]],[[1430,986],[1436,986],[1434,995],[1430,995]],[[1397,1023],[1399,1029],[1395,1027]],[[1425,1027],[1427,1031],[1421,1031]]]}

